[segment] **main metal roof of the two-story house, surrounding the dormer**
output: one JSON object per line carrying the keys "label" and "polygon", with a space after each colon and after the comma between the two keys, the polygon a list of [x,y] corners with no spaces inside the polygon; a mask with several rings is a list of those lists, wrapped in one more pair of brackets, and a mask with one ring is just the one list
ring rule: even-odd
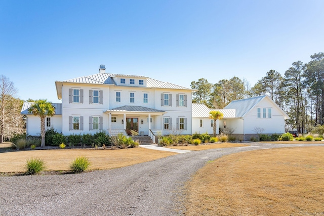
{"label": "main metal roof of the two-story house, surrounding the dormer", "polygon": [[[110,74],[110,73],[96,73],[89,76],[82,76],[73,79],[67,79],[62,82],[74,82],[74,83],[89,83],[89,84],[113,84],[118,85],[114,82],[113,77],[136,77],[136,78],[145,78],[148,88],[157,88],[157,89],[182,89],[182,90],[192,90],[180,85],[176,85],[170,82],[163,82],[156,79],[151,79],[145,76],[137,75],[122,75],[122,74]],[[60,81],[57,81],[60,82]],[[123,86],[132,86],[132,85],[123,85]],[[136,87],[136,86],[135,86]]]}

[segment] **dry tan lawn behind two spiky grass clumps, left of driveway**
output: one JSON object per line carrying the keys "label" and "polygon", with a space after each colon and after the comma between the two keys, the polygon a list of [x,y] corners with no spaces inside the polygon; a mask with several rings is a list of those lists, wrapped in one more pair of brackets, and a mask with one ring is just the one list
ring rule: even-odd
{"label": "dry tan lawn behind two spiky grass clumps, left of driveway", "polygon": [[91,162],[90,169],[112,169],[136,163],[155,160],[177,153],[145,148],[118,150],[57,149],[14,151],[0,154],[0,172],[22,172],[27,159],[41,158],[47,171],[69,170],[70,163],[77,156],[86,156]]}

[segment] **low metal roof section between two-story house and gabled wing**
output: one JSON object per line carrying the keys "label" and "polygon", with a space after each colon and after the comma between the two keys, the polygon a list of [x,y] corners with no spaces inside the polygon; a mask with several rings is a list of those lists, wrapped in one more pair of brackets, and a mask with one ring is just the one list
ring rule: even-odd
{"label": "low metal roof section between two-story house and gabled wing", "polygon": [[223,118],[235,118],[235,109],[210,109],[205,104],[192,104],[192,117],[208,118],[212,110],[223,113]]}

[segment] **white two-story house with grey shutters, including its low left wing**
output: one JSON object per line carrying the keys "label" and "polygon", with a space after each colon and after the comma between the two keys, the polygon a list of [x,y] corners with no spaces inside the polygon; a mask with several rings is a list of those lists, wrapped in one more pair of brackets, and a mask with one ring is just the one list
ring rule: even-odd
{"label": "white two-story house with grey shutters, including its low left wing", "polygon": [[[191,135],[191,94],[194,90],[144,76],[99,73],[65,81],[56,81],[56,115],[46,118],[48,128],[63,135],[109,135],[137,131],[140,135]],[[27,115],[27,134],[39,135],[39,117]],[[52,122],[51,122],[52,121]],[[55,122],[54,122],[55,121]]]}

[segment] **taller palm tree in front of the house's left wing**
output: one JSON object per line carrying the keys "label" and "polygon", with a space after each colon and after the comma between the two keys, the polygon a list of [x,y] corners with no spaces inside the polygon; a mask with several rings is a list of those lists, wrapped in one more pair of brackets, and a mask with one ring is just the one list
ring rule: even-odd
{"label": "taller palm tree in front of the house's left wing", "polygon": [[55,107],[52,105],[51,102],[47,101],[46,99],[41,99],[35,101],[29,108],[28,112],[32,113],[35,116],[39,116],[41,118],[41,137],[42,137],[42,144],[41,147],[45,147],[45,117],[46,116],[53,116],[55,114]]}

